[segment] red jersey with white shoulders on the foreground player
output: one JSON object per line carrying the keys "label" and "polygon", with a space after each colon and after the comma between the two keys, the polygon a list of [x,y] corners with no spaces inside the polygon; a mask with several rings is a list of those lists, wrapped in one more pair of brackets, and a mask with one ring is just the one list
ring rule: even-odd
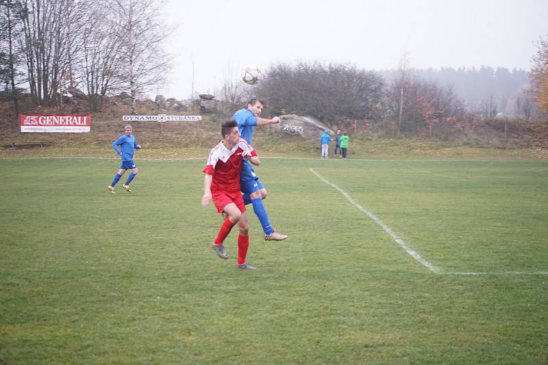
{"label": "red jersey with white shoulders on the foreground player", "polygon": [[208,157],[208,164],[203,169],[208,175],[213,175],[211,191],[227,191],[240,193],[240,174],[242,172],[242,152],[249,151],[251,156],[257,156],[253,147],[240,138],[238,144],[229,150],[219,142],[212,148]]}

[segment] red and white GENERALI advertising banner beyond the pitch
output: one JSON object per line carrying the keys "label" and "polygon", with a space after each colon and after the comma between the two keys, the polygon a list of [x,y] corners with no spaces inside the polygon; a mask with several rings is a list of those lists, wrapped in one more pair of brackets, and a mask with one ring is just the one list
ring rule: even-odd
{"label": "red and white GENERALI advertising banner beyond the pitch", "polygon": [[21,132],[85,133],[91,129],[91,114],[86,116],[25,116],[19,114]]}

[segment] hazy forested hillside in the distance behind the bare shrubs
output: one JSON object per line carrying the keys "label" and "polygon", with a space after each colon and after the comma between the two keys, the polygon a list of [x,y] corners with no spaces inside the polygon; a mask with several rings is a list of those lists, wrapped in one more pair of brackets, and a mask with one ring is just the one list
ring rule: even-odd
{"label": "hazy forested hillside in the distance behind the bare shrubs", "polygon": [[[388,81],[398,77],[397,70],[378,71]],[[508,116],[516,116],[516,105],[523,103],[524,94],[529,85],[529,72],[481,66],[476,68],[432,68],[409,70],[414,77],[434,81],[438,85],[452,86],[458,96],[464,100],[466,108],[477,110],[484,103],[496,103],[497,111]],[[518,100],[520,100],[518,102]]]}

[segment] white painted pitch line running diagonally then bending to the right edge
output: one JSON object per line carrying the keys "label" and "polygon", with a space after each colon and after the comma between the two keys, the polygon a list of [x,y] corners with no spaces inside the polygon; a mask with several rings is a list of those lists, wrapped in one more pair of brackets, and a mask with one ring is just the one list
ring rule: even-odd
{"label": "white painted pitch line running diagonally then bending to the right edge", "polygon": [[388,226],[386,226],[386,224],[384,224],[376,215],[368,211],[366,208],[364,208],[360,204],[356,203],[346,191],[344,191],[343,189],[340,189],[340,187],[338,187],[335,184],[329,183],[329,181],[325,180],[325,178],[321,177],[317,172],[312,170],[312,167],[310,168],[310,171],[314,175],[318,176],[318,178],[322,180],[324,183],[340,191],[340,193],[342,193],[345,196],[345,198],[347,198],[347,200],[351,202],[353,206],[356,206],[356,208],[360,209],[360,211],[362,211],[368,217],[373,219],[373,221],[375,221],[375,223],[377,223],[384,230],[384,232],[388,233],[388,235],[392,237],[395,243],[397,243],[401,248],[406,250],[406,252],[410,254],[415,260],[420,262],[424,267],[426,267],[427,269],[429,269],[429,271],[432,271],[433,273],[442,274],[442,275],[463,275],[463,276],[464,275],[469,275],[469,276],[474,276],[474,275],[477,275],[477,276],[479,275],[548,275],[548,271],[536,271],[536,272],[529,272],[529,273],[525,271],[501,271],[501,272],[493,272],[493,273],[444,272],[440,268],[432,265],[427,260],[422,258],[421,255],[419,255],[418,253],[414,252],[414,250],[408,247],[408,245],[406,245],[406,243],[402,239],[400,239],[397,236],[397,234],[393,232],[393,230],[391,230]]}

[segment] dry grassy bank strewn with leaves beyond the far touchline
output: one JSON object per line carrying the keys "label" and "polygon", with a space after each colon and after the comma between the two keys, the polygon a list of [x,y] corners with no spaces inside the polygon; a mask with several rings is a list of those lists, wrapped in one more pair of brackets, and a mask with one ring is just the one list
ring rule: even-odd
{"label": "dry grassy bank strewn with leaves beyond the far touchline", "polygon": [[[19,133],[4,123],[0,133],[0,157],[113,157],[110,144],[122,133],[123,122],[114,116],[94,117],[90,133]],[[199,124],[166,123],[163,133],[153,122],[134,122],[134,135],[143,149],[136,159],[183,159],[207,156],[220,139],[219,118],[205,116]],[[385,139],[367,133],[350,136],[349,159],[547,159],[542,149],[472,148],[460,144],[417,139]],[[24,146],[26,141],[44,141]],[[22,145],[10,149],[12,142]],[[258,128],[253,140],[262,157],[319,157],[319,141],[270,133]],[[331,144],[331,153],[334,143]]]}

